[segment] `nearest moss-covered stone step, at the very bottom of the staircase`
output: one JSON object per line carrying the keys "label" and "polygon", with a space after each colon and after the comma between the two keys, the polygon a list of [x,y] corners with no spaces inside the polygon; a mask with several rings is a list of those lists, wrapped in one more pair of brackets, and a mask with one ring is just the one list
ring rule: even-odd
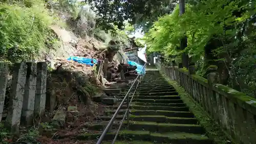
{"label": "nearest moss-covered stone step, at the very bottom of the staircase", "polygon": [[[95,140],[100,137],[101,133],[97,134],[80,134],[75,137],[77,140]],[[103,140],[113,140],[115,133],[107,133]],[[172,144],[211,144],[212,141],[202,134],[191,133],[151,133],[150,131],[129,131],[122,130],[118,134],[118,140],[140,140],[151,141],[154,143],[172,143]]]}

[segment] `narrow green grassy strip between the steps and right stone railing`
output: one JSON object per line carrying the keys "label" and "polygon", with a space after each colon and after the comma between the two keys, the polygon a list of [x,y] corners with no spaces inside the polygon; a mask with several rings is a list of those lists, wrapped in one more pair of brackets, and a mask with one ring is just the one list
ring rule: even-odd
{"label": "narrow green grassy strip between the steps and right stone railing", "polygon": [[222,130],[222,128],[210,117],[210,115],[200,105],[198,105],[197,102],[189,94],[187,94],[183,88],[179,86],[177,81],[170,80],[161,71],[160,73],[166,80],[168,80],[168,83],[176,89],[181,99],[189,107],[190,111],[194,113],[196,118],[199,120],[200,125],[204,127],[208,136],[214,140],[216,144],[225,144],[227,142],[234,144],[236,143],[233,142],[233,139],[231,139],[231,137]]}

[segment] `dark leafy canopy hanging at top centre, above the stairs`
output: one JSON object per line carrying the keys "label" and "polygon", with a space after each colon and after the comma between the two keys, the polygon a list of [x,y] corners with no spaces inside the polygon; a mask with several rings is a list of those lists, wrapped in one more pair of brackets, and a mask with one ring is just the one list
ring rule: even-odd
{"label": "dark leafy canopy hanging at top centre, above the stairs", "polygon": [[177,1],[108,1],[108,0],[86,0],[97,13],[96,23],[105,31],[114,30],[113,25],[123,29],[125,20],[137,28],[142,27],[147,31],[159,16],[172,12]]}

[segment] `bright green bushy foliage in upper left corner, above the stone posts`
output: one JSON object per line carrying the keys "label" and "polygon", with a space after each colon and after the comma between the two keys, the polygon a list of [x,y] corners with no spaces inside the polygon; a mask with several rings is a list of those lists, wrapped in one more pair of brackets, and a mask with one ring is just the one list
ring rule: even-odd
{"label": "bright green bushy foliage in upper left corner, above the stone posts", "polygon": [[33,2],[25,1],[29,7],[0,3],[2,58],[24,61],[38,56],[40,50],[55,47],[56,39],[49,29],[53,17],[48,15],[44,3]]}

